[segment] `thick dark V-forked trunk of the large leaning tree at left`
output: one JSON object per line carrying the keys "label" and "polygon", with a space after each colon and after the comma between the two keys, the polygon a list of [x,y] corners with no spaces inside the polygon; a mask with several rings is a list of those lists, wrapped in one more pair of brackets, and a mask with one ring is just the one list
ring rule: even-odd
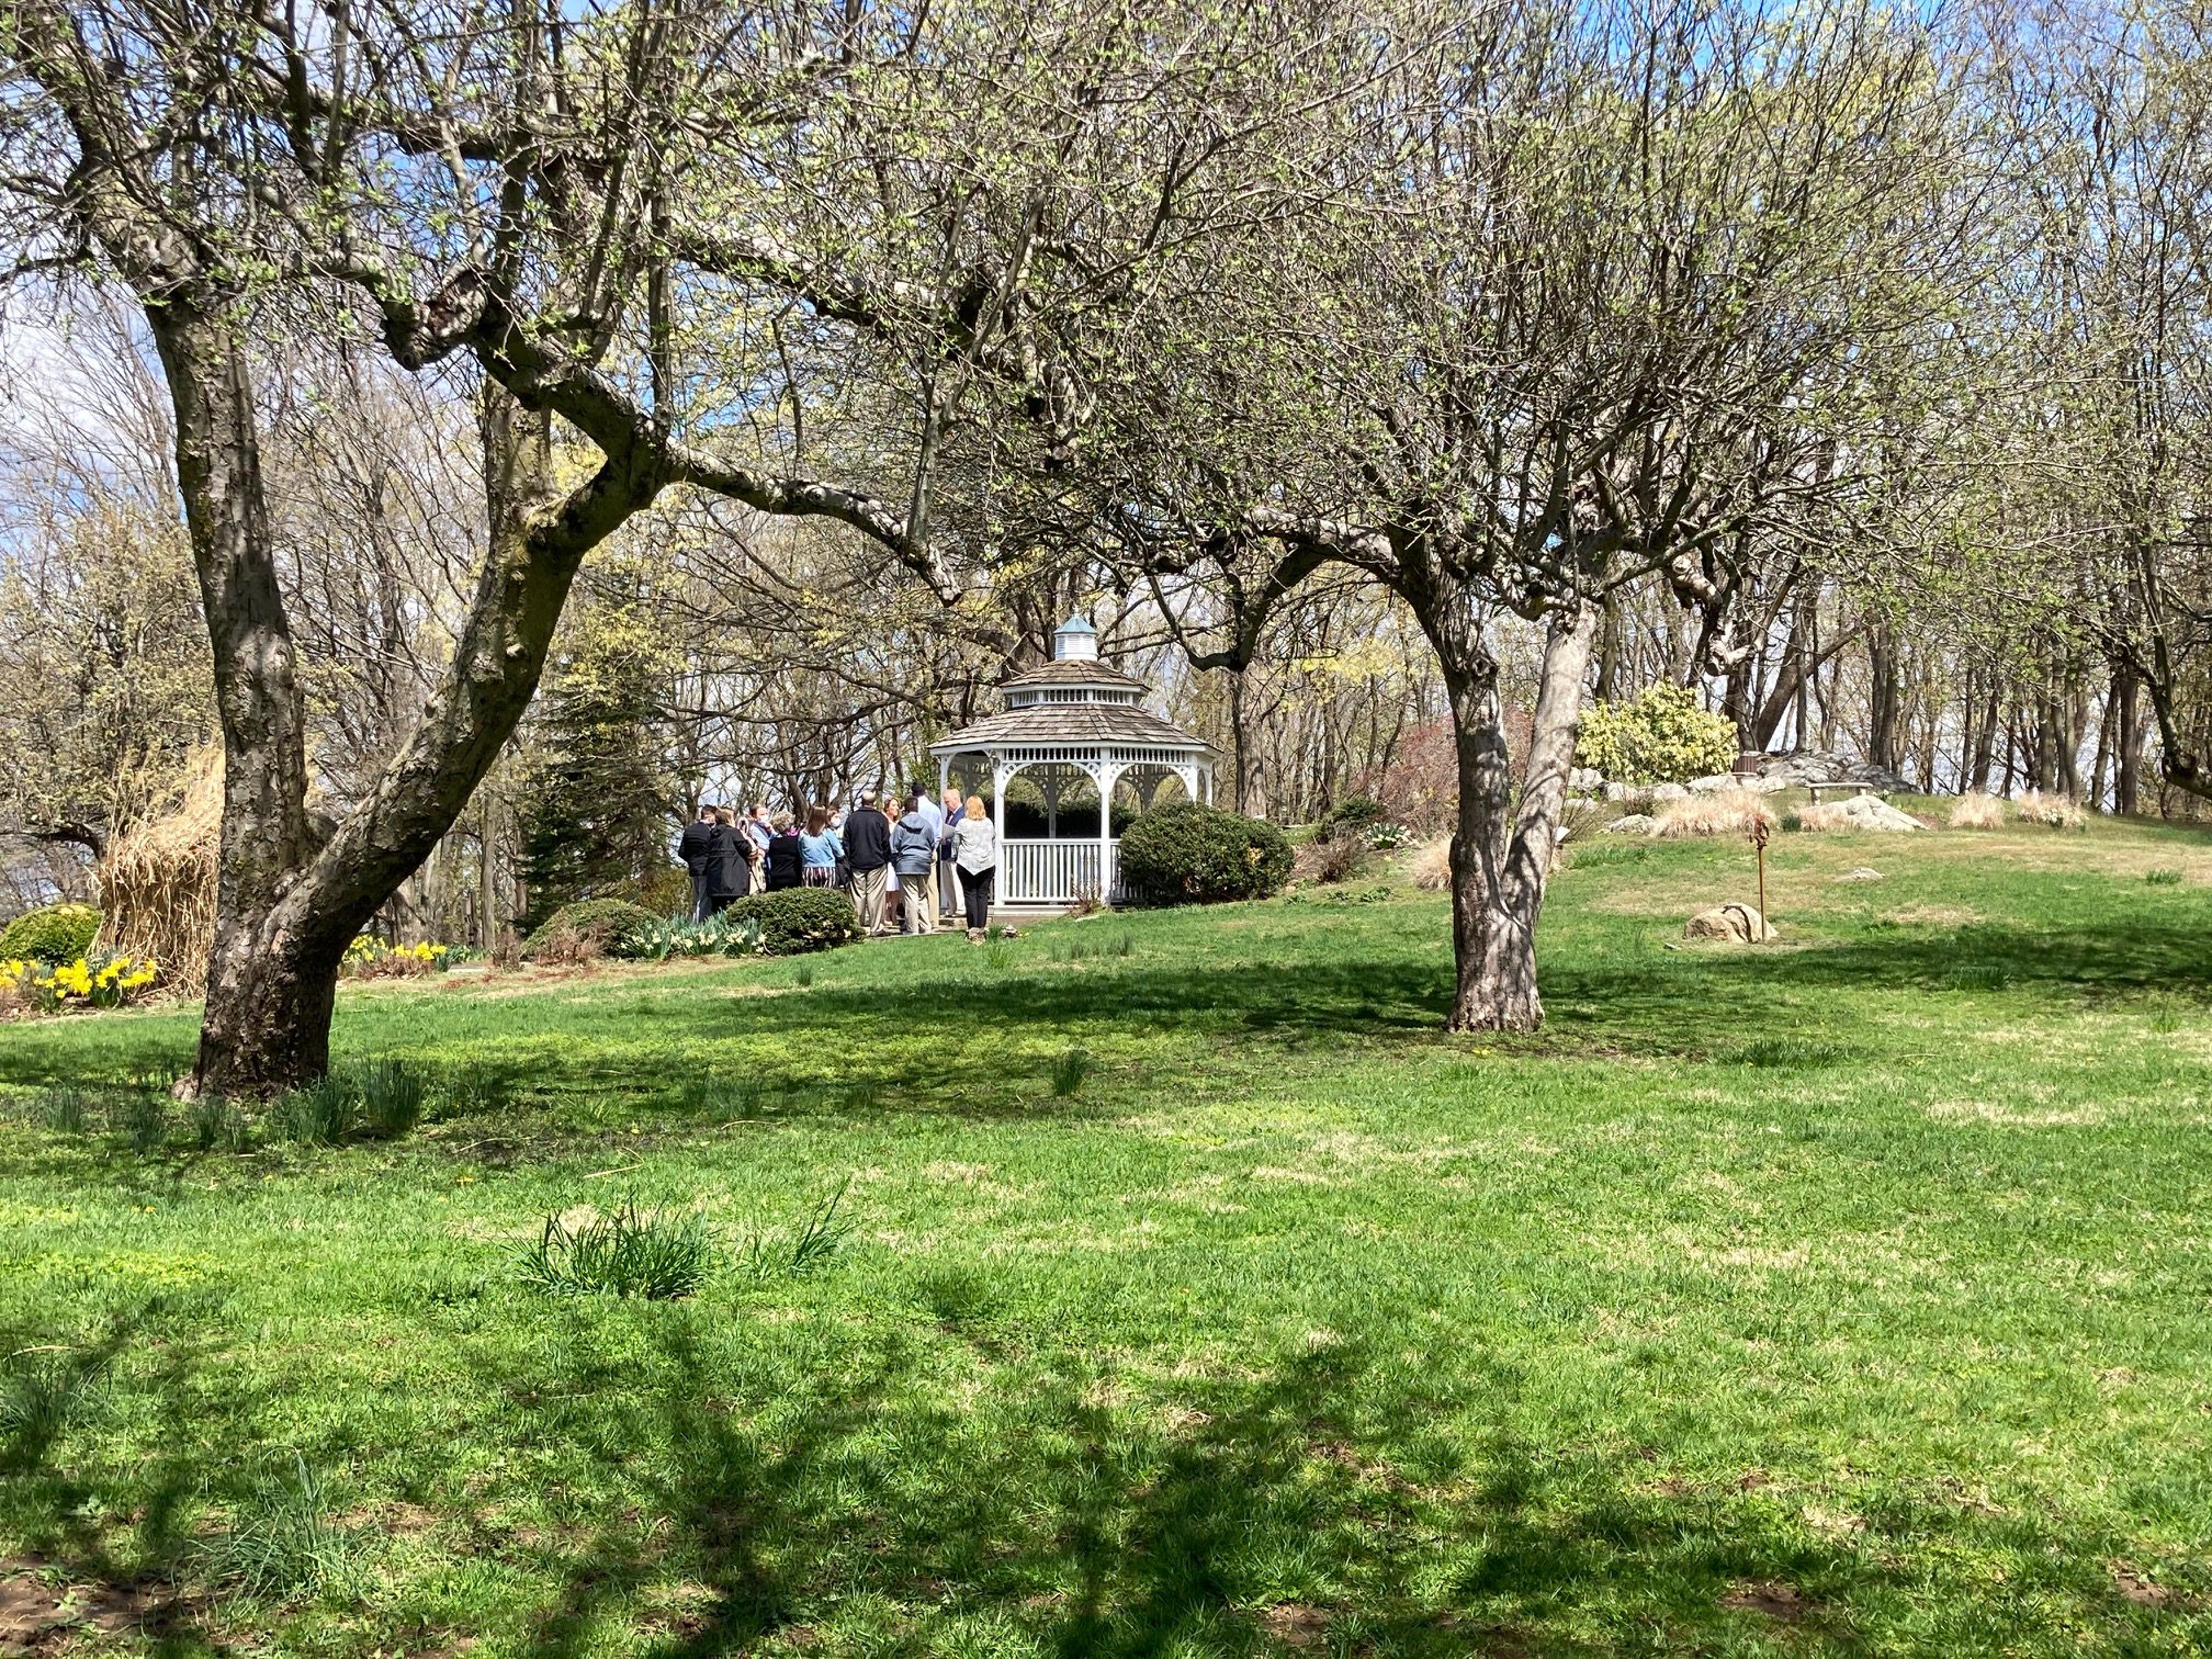
{"label": "thick dark V-forked trunk of the large leaning tree at left", "polygon": [[[186,330],[186,319],[157,314],[157,341]],[[226,763],[223,876],[190,1086],[272,1095],[327,1068],[347,942],[453,827],[538,690],[577,564],[653,498],[659,480],[630,471],[626,456],[608,456],[586,484],[549,502],[549,416],[487,389],[491,538],[453,661],[367,801],[316,849],[243,363],[234,349],[226,361],[188,334],[164,345],[164,365],[186,500],[204,502],[192,544],[204,566]],[[239,664],[234,677],[226,661]]]}

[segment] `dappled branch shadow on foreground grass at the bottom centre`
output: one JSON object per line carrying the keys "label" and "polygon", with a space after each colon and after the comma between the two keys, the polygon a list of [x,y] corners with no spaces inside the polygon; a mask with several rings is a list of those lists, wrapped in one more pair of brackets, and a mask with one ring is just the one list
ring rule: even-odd
{"label": "dappled branch shadow on foreground grass at the bottom centre", "polygon": [[[624,1626],[653,1632],[655,1659],[801,1652],[860,1601],[869,1630],[841,1637],[874,1652],[1712,1652],[1785,1626],[1849,1641],[1854,1604],[1909,1593],[1905,1566],[1787,1509],[1668,1491],[1652,1453],[1562,1460],[1500,1411],[1462,1462],[1429,1433],[1438,1402],[1356,1347],[1190,1385],[1172,1416],[1135,1420],[1031,1380],[1020,1429],[978,1436],[964,1411],[905,1398],[918,1349],[816,1378],[799,1427],[759,1433],[761,1402],[732,1398],[688,1329],[655,1345],[619,1438],[675,1458],[641,1453],[633,1513],[571,1535],[535,1655],[584,1659]],[[588,1391],[591,1369],[540,1385]],[[1984,1526],[1971,1515],[1911,1526],[1918,1544],[1989,1546],[1964,1535]],[[670,1586],[690,1590],[677,1608]],[[2108,1590],[2081,1575],[2057,1593],[2095,1621]],[[2026,1635],[2048,1610],[2026,1597],[2017,1617],[1975,1617]]]}

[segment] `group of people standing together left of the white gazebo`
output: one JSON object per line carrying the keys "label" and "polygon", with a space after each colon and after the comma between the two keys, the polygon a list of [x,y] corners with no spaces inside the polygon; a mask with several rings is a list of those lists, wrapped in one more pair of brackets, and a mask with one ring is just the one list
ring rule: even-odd
{"label": "group of people standing together left of the white gazebo", "polygon": [[933,933],[964,911],[967,933],[980,940],[991,927],[998,883],[998,827],[982,796],[942,801],[927,792],[894,799],[894,818],[863,790],[852,812],[807,807],[805,827],[790,812],[754,805],[701,805],[684,825],[677,858],[692,878],[692,920],[754,891],[783,887],[841,887],[869,938]]}

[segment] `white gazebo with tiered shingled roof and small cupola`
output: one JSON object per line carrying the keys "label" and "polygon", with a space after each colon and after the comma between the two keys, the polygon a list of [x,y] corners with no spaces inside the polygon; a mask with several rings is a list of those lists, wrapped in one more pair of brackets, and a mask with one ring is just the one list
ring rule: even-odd
{"label": "white gazebo with tiered shingled roof and small cupola", "polygon": [[[1097,657],[1097,628],[1068,617],[1053,630],[1053,659],[1004,684],[1002,714],[929,745],[940,790],[958,785],[991,799],[1002,905],[1119,896],[1115,790],[1139,812],[1161,805],[1170,783],[1188,801],[1212,803],[1214,752],[1144,708],[1150,686]],[[1044,801],[1042,838],[1006,836],[1006,785],[1024,772]],[[1064,838],[1060,807],[1086,785],[1099,803],[1097,834]]]}

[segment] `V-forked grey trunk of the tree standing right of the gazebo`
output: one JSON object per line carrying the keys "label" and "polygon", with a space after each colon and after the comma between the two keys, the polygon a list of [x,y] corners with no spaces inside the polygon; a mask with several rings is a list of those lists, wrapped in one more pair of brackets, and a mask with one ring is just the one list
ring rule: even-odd
{"label": "V-forked grey trunk of the tree standing right of the gazebo", "polygon": [[1535,922],[1566,801],[1566,772],[1582,723],[1582,675],[1595,613],[1553,622],[1544,641],[1520,810],[1506,757],[1498,664],[1486,653],[1444,659],[1458,748],[1460,816],[1451,836],[1451,1031],[1535,1031],[1544,1000],[1535,982]]}

